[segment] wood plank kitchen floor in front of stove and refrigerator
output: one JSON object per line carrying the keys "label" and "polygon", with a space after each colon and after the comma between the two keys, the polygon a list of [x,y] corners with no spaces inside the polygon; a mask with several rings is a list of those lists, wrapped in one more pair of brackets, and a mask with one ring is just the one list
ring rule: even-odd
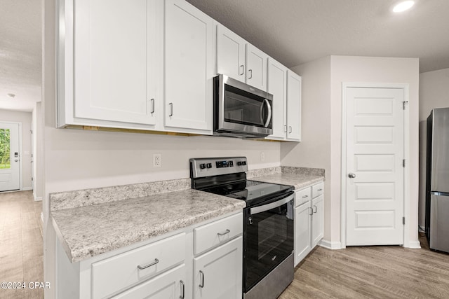
{"label": "wood plank kitchen floor in front of stove and refrigerator", "polygon": [[449,298],[449,254],[401,246],[316,247],[280,299]]}

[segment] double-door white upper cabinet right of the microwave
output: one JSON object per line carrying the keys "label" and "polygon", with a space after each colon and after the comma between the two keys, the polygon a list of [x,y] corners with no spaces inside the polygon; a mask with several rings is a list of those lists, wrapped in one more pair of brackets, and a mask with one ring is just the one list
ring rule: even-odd
{"label": "double-door white upper cabinet right of the microwave", "polygon": [[301,77],[268,59],[267,91],[273,95],[273,140],[301,141]]}

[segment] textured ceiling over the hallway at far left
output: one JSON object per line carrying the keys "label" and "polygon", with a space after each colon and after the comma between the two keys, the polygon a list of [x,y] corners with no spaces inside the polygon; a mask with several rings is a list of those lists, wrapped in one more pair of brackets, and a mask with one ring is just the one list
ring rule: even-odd
{"label": "textured ceiling over the hallway at far left", "polygon": [[0,109],[32,111],[41,99],[41,45],[41,1],[0,0]]}

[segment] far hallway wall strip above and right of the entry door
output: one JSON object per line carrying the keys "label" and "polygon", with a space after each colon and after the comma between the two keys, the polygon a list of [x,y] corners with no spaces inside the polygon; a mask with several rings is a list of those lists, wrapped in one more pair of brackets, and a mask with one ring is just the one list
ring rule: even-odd
{"label": "far hallway wall strip above and right of the entry door", "polygon": [[20,157],[22,160],[22,169],[20,176],[22,176],[22,189],[32,189],[32,165],[31,165],[31,151],[32,151],[32,113],[20,112],[11,110],[0,110],[0,121],[11,121],[22,123],[22,152]]}

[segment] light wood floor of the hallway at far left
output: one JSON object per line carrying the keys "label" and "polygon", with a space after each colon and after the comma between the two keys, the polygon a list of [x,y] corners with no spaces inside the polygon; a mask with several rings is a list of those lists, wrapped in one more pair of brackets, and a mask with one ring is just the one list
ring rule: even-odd
{"label": "light wood floor of the hallway at far left", "polygon": [[0,193],[0,282],[25,282],[26,288],[0,288],[0,298],[43,298],[43,289],[29,288],[43,282],[42,202],[32,191]]}

